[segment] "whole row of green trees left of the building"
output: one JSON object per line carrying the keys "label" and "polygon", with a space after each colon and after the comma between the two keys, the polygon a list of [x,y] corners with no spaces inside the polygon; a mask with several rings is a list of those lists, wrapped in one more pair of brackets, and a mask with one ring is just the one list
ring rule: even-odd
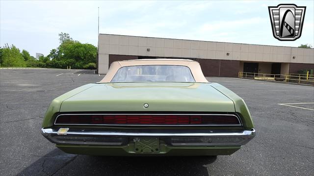
{"label": "whole row of green trees left of the building", "polygon": [[28,66],[48,68],[96,69],[97,47],[74,41],[69,34],[59,34],[60,45],[52,49],[48,56],[35,59],[29,52],[20,50],[14,45],[0,47],[0,66]]}

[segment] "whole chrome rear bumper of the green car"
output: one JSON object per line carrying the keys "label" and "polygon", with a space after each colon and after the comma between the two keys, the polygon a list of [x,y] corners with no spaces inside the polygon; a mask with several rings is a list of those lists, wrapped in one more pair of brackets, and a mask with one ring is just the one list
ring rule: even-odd
{"label": "whole chrome rear bumper of the green car", "polygon": [[41,133],[55,144],[122,146],[139,138],[157,137],[172,146],[241,146],[255,136],[251,131],[99,131],[78,129],[42,129]]}

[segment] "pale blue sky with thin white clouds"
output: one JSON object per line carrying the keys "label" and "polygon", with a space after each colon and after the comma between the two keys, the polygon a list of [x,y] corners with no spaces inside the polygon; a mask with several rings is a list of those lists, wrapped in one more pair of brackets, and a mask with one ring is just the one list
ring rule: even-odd
{"label": "pale blue sky with thin white clouds", "polygon": [[[273,37],[268,6],[306,6],[296,41]],[[241,44],[314,46],[314,0],[294,1],[18,1],[0,0],[0,46],[14,44],[32,56],[58,47],[60,32],[97,46],[101,34]]]}

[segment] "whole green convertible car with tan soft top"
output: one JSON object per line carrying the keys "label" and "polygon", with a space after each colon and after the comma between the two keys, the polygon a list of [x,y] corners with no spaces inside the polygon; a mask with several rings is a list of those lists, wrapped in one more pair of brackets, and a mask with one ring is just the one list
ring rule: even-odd
{"label": "whole green convertible car with tan soft top", "polygon": [[183,59],[116,61],[55,98],[42,134],[70,154],[229,155],[255,136],[243,99]]}

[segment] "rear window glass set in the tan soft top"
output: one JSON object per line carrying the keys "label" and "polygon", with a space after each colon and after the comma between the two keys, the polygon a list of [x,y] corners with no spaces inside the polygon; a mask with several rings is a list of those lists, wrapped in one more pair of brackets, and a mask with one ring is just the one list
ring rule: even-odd
{"label": "rear window glass set in the tan soft top", "polygon": [[125,82],[195,82],[187,66],[124,66],[111,83]]}

